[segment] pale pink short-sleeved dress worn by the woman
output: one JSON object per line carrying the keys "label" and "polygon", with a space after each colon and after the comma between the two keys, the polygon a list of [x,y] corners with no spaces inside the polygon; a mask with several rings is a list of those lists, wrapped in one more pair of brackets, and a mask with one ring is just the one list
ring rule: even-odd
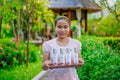
{"label": "pale pink short-sleeved dress worn by the woman", "polygon": [[[54,38],[52,40],[46,41],[43,43],[43,52],[44,53],[50,53],[50,58],[54,57],[53,49],[58,55],[60,54],[60,49],[63,50],[64,54],[66,53],[66,49],[70,50],[71,56],[74,54],[74,48],[77,49],[77,51],[81,51],[81,43],[78,40],[69,38],[69,42],[67,46],[60,46],[57,44],[56,41],[57,38]],[[67,56],[67,55],[66,55]],[[51,61],[54,61],[55,58],[51,59]],[[56,68],[56,69],[49,69],[50,74],[48,80],[79,80],[78,75],[76,73],[75,67],[71,68]]]}

